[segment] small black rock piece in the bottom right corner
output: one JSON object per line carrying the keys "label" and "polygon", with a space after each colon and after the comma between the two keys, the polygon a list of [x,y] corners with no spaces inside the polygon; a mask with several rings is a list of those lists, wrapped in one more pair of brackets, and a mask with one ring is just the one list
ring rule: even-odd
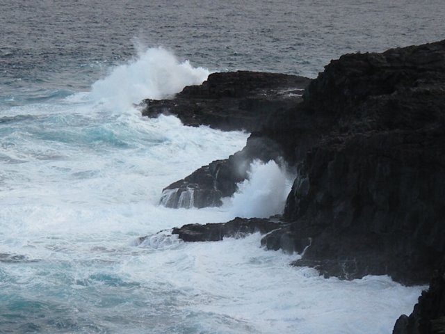
{"label": "small black rock piece in the bottom right corner", "polygon": [[419,303],[410,317],[402,315],[396,321],[393,334],[442,334],[445,333],[445,265],[437,270],[430,287],[422,292]]}

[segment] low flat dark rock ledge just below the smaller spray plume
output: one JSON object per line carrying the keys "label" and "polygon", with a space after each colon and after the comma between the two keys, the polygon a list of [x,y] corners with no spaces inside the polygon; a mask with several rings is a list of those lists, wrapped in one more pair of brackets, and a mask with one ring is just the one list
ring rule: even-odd
{"label": "low flat dark rock ledge just below the smaller spray plume", "polygon": [[281,225],[263,218],[234,218],[227,223],[184,225],[174,228],[172,234],[178,234],[179,239],[184,241],[220,241],[223,237],[245,237],[254,232],[265,234],[280,228]]}

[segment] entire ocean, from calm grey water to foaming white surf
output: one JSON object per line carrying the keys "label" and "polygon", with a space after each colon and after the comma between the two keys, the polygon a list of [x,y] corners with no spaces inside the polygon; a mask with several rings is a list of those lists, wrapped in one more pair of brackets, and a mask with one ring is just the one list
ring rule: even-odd
{"label": "entire ocean, from calm grey water to foaming white surf", "polygon": [[211,72],[316,77],[344,53],[442,39],[444,1],[0,6],[0,333],[374,334],[412,312],[425,287],[326,279],[289,266],[298,254],[261,248],[259,234],[172,236],[280,213],[294,175],[255,163],[223,207],[165,208],[163,187],[249,134],[143,118],[138,104]]}

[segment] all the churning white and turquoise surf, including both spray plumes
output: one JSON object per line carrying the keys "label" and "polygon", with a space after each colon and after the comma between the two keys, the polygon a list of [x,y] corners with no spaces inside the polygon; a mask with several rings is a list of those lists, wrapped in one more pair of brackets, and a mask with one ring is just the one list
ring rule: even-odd
{"label": "all the churning white and turquoise surf, including both spray plumes", "polygon": [[276,164],[254,163],[221,208],[157,204],[164,186],[245,145],[243,132],[133,106],[207,74],[148,49],[90,92],[1,111],[1,333],[390,333],[411,312],[421,287],[324,279],[289,267],[298,255],[262,249],[259,234],[196,244],[170,234],[275,214],[290,187]]}

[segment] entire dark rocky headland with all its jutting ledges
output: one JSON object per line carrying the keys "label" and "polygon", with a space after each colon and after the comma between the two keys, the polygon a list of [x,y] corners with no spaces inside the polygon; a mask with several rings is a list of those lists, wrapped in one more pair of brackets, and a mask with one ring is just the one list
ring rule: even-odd
{"label": "entire dark rocky headland with all its jutting ledges", "polygon": [[[240,152],[167,186],[164,205],[220,205],[253,159],[287,164],[298,176],[261,244],[304,249],[294,265],[324,276],[387,274],[407,285],[432,278],[394,333],[445,333],[445,40],[346,54],[312,81],[212,74],[172,100],[146,102],[147,116],[252,132]],[[230,224],[227,235],[250,231],[243,220]],[[198,240],[224,234],[221,225],[206,226],[176,232],[199,232]]]}

